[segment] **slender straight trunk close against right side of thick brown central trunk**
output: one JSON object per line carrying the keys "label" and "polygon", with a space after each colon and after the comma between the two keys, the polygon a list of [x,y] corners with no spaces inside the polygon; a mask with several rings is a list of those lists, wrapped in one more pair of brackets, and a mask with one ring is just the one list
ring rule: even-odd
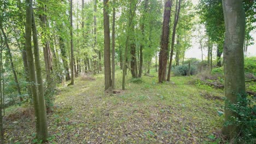
{"label": "slender straight trunk close against right side of thick brown central trunk", "polygon": [[115,0],[113,0],[112,22],[112,88],[115,88]]}

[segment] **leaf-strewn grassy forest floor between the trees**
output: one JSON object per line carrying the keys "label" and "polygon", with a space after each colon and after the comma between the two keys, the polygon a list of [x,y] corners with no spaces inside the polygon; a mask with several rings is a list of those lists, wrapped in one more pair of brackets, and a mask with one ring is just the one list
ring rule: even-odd
{"label": "leaf-strewn grassy forest floor between the trees", "polygon": [[[218,143],[223,90],[195,85],[194,76],[159,84],[152,73],[141,83],[128,74],[126,90],[118,94],[104,94],[103,74],[60,86],[48,115],[49,143]],[[116,77],[118,89],[120,71]],[[32,111],[27,105],[6,110],[6,143],[38,143]]]}

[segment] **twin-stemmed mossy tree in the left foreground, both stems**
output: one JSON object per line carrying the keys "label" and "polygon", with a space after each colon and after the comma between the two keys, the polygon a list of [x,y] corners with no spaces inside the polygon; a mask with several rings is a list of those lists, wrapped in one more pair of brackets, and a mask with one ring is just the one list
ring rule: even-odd
{"label": "twin-stemmed mossy tree in the left foreground, both stems", "polygon": [[[48,128],[46,123],[46,110],[44,104],[43,81],[39,61],[39,49],[37,41],[37,30],[34,17],[32,16],[32,0],[26,0],[26,52],[28,63],[28,74],[30,76],[30,83],[33,95],[34,113],[36,119],[37,139],[46,141],[48,139]],[[33,25],[32,25],[33,23]],[[34,56],[35,64],[31,46],[31,32],[33,28],[33,41],[34,41]],[[38,85],[39,84],[39,85]]]}

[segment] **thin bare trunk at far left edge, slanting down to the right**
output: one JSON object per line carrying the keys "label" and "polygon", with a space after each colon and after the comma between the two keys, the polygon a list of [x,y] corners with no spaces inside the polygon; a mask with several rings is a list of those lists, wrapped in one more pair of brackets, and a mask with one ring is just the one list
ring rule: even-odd
{"label": "thin bare trunk at far left edge, slanting down to the right", "polygon": [[0,22],[0,28],[1,28],[1,31],[2,31],[2,34],[3,34],[3,37],[4,37],[4,44],[5,44],[6,48],[7,48],[7,52],[8,52],[8,55],[9,55],[10,64],[11,64],[11,70],[13,71],[16,88],[17,88],[17,91],[18,91],[18,94],[19,94],[19,97],[20,97],[20,102],[22,102],[23,98],[22,98],[22,95],[21,95],[20,84],[19,84],[19,81],[18,81],[18,77],[17,77],[17,74],[16,74],[14,63],[13,63],[13,56],[11,56],[7,35],[4,32],[2,22]]}

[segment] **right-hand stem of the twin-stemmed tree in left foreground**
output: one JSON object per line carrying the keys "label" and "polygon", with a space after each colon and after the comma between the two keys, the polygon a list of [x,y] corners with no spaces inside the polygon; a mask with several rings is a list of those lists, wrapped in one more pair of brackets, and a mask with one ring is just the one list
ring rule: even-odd
{"label": "right-hand stem of the twin-stemmed tree in left foreground", "polygon": [[39,131],[37,134],[38,140],[43,140],[44,142],[48,139],[48,126],[46,119],[46,109],[44,102],[44,86],[42,79],[42,69],[40,66],[39,58],[39,46],[37,38],[37,27],[36,22],[34,21],[33,9],[32,9],[32,30],[33,30],[33,44],[34,44],[34,64],[36,67],[36,77],[37,77],[37,87],[38,87],[38,123]]}

